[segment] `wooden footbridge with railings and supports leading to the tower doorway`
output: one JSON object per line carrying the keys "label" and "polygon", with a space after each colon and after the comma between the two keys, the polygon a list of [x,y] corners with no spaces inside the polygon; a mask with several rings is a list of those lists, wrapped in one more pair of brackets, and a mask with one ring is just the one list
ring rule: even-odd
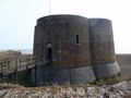
{"label": "wooden footbridge with railings and supports leading to the tower doorway", "polygon": [[[22,85],[32,84],[37,86],[37,68],[41,65],[47,68],[50,63],[50,60],[37,61],[33,56],[2,60],[0,61],[0,83],[22,83]],[[32,69],[35,72],[35,84],[32,83]],[[20,73],[26,75],[25,82],[21,82]]]}

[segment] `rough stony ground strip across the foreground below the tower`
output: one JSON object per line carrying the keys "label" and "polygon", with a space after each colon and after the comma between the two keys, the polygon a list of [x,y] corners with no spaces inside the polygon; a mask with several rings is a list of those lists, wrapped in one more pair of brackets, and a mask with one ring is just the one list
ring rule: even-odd
{"label": "rough stony ground strip across the foreground below the tower", "polygon": [[131,98],[131,81],[103,86],[0,86],[0,98]]}

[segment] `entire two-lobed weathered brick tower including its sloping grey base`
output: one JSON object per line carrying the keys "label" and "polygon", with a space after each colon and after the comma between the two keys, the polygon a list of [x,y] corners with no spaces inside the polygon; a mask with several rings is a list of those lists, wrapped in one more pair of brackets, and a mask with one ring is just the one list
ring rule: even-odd
{"label": "entire two-lobed weathered brick tower including its sloping grey base", "polygon": [[79,15],[37,20],[34,56],[44,64],[43,82],[91,83],[120,72],[111,21]]}

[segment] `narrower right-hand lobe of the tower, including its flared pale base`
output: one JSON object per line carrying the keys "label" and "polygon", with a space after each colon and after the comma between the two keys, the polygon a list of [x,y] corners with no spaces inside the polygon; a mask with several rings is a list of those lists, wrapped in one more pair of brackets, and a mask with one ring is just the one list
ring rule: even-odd
{"label": "narrower right-hand lobe of the tower, including its flared pale base", "polygon": [[92,64],[97,78],[120,73],[116,61],[111,21],[90,19]]}

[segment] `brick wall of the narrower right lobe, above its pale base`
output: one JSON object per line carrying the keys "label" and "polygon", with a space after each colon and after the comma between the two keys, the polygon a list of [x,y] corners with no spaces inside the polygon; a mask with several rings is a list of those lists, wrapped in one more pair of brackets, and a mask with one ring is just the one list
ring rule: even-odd
{"label": "brick wall of the narrower right lobe, above its pale base", "polygon": [[93,64],[116,61],[111,21],[90,19],[91,51]]}

